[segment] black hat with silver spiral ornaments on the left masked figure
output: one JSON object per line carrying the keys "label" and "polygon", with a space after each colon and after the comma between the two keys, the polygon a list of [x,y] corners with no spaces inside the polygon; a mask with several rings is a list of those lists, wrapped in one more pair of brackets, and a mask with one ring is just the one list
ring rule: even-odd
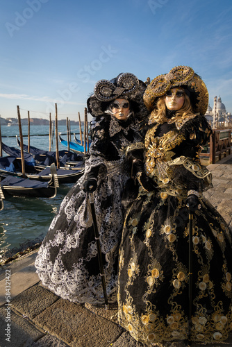
{"label": "black hat with silver spiral ornaments on the left masked figure", "polygon": [[147,85],[130,72],[119,74],[112,80],[100,80],[94,87],[94,94],[87,101],[88,112],[93,117],[103,115],[115,99],[126,99],[131,103],[135,117],[147,115],[142,96]]}

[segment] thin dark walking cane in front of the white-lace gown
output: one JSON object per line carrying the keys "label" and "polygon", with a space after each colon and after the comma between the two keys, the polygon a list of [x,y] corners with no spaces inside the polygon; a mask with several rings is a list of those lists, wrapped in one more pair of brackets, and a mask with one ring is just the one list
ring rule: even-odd
{"label": "thin dark walking cane in front of the white-lace gown", "polygon": [[[92,185],[90,185],[90,191],[93,188]],[[92,225],[94,228],[94,237],[97,242],[97,257],[98,257],[98,262],[99,262],[99,269],[100,269],[100,276],[101,276],[101,284],[103,288],[103,296],[105,300],[105,308],[108,310],[109,305],[108,305],[108,298],[107,298],[107,293],[106,293],[106,280],[105,280],[105,275],[103,271],[103,262],[102,262],[102,255],[101,255],[101,245],[99,241],[99,231],[97,227],[97,218],[96,218],[96,212],[95,212],[95,207],[94,207],[94,194],[93,192],[90,192],[90,208],[91,208],[91,213],[92,213]]]}

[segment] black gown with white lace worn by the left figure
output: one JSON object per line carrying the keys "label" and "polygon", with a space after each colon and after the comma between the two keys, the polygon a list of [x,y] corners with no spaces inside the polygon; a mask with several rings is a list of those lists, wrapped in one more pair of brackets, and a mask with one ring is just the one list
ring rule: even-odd
{"label": "black gown with white lace worn by the left figure", "polygon": [[117,260],[124,218],[121,196],[128,178],[122,164],[124,149],[138,139],[141,140],[138,120],[133,116],[124,122],[110,115],[92,121],[85,173],[63,199],[35,260],[42,283],[62,298],[77,303],[104,303],[90,205],[83,191],[88,173],[100,167],[94,205],[108,301],[117,301]]}

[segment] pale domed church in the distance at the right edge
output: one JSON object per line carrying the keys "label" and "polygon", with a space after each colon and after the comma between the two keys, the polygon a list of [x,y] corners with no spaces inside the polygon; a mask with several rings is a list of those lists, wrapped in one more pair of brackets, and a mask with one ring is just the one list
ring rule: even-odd
{"label": "pale domed church in the distance at the right edge", "polygon": [[[215,119],[213,119],[215,116]],[[222,103],[221,96],[217,98],[215,96],[213,108],[210,107],[210,104],[208,104],[208,108],[206,111],[206,118],[208,122],[213,126],[213,122],[222,125],[224,124],[227,126],[232,121],[232,115],[231,112],[226,111],[226,106],[224,103]]]}

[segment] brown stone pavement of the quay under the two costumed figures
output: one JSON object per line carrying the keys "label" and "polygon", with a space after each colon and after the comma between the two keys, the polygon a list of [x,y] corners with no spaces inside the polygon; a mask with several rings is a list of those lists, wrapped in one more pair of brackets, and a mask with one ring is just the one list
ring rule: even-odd
{"label": "brown stone pavement of the quay under the two costumed figures", "polygon": [[[232,227],[232,155],[208,169],[214,187],[205,196]],[[116,306],[78,305],[44,288],[35,273],[36,254],[0,267],[0,347],[142,347],[117,324]],[[232,335],[224,344],[205,346],[232,346]]]}

